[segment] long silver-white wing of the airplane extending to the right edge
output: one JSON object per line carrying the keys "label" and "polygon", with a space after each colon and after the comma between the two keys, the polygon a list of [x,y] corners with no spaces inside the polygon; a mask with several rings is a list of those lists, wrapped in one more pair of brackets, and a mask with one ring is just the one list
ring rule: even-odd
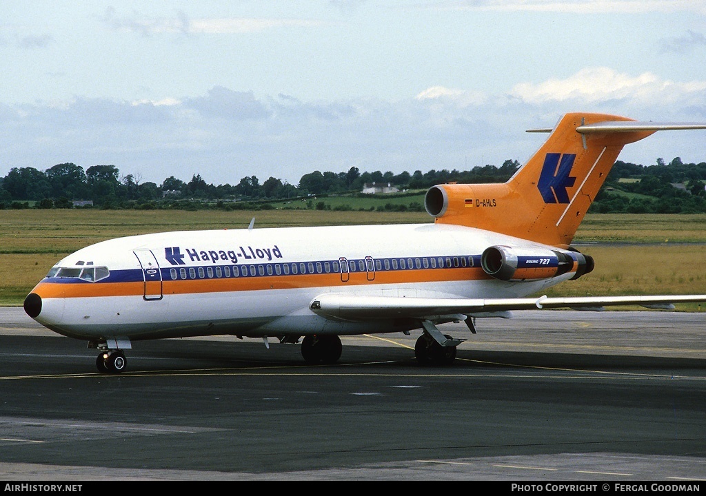
{"label": "long silver-white wing of the airplane extending to the right edge", "polygon": [[474,313],[505,312],[508,310],[540,310],[573,308],[604,310],[604,306],[639,305],[670,310],[674,303],[706,302],[706,295],[652,296],[577,296],[570,298],[405,298],[389,296],[357,296],[322,294],[311,301],[309,308],[323,317],[340,320],[370,320],[381,318],[433,319],[440,315],[472,315]]}

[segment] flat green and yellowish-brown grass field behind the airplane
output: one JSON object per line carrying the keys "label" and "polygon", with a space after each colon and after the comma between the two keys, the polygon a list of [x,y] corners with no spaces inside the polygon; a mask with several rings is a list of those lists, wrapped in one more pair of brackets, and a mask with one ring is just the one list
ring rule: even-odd
{"label": "flat green and yellowish-brown grass field behind the airplane", "polygon": [[[424,212],[330,210],[2,210],[0,305],[21,305],[50,267],[79,248],[117,236],[255,226],[431,222]],[[706,214],[592,214],[575,245],[596,269],[547,291],[549,296],[706,294]],[[698,306],[679,306],[700,310]]]}

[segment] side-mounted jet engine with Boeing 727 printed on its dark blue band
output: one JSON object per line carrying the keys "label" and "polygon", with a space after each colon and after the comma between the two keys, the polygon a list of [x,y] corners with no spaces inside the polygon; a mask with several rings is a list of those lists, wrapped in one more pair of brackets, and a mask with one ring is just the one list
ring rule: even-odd
{"label": "side-mounted jet engine with Boeing 727 printed on its dark blue band", "polygon": [[481,267],[501,281],[549,279],[567,272],[578,279],[593,270],[594,262],[578,251],[491,246],[481,255]]}

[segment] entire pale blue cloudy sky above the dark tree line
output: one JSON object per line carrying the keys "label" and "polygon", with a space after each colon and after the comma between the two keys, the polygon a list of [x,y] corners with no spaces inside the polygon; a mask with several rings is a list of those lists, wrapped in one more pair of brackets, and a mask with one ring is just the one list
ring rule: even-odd
{"label": "entire pale blue cloudy sky above the dark tree line", "polygon": [[[568,111],[706,121],[703,0],[0,0],[0,176],[236,184],[525,160]],[[706,161],[667,131],[619,157]]]}

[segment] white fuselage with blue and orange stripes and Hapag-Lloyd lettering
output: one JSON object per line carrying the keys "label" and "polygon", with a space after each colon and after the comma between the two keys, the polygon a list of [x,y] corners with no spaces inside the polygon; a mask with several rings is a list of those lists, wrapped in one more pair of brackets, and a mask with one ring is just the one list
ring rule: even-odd
{"label": "white fuselage with blue and orange stripes and Hapag-Lloyd lettering", "polygon": [[[116,238],[61,260],[55,266],[59,272],[50,272],[52,277],[33,290],[41,297],[35,319],[82,339],[395,332],[419,323],[333,320],[316,315],[309,305],[316,296],[331,293],[517,298],[572,275],[524,282],[493,279],[479,260],[486,248],[497,245],[546,248],[448,224],[223,229]],[[86,267],[103,268],[80,277]]]}

